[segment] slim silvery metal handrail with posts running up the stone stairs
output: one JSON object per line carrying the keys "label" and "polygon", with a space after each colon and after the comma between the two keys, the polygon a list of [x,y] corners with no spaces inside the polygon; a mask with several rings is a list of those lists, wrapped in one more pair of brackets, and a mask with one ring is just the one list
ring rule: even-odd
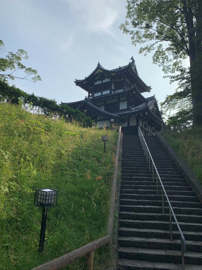
{"label": "slim silvery metal handrail with posts running up the stone stairs", "polygon": [[[153,161],[153,159],[152,159],[152,157],[151,157],[151,154],[150,154],[149,149],[148,149],[148,146],[147,146],[147,144],[146,144],[146,142],[145,142],[145,138],[144,138],[144,136],[142,135],[142,131],[141,131],[140,127],[138,128],[138,135],[139,135],[139,137],[140,137],[140,141],[141,141],[141,145],[143,146],[143,150],[145,150],[145,155],[146,155],[146,153],[147,153],[147,163],[148,163],[148,154],[149,154],[149,170],[150,170],[150,171],[151,171],[151,162],[150,162],[150,159],[151,159],[151,161],[152,161],[152,178],[153,178],[153,182],[154,182],[154,169],[156,170],[157,195],[159,195],[159,194],[158,194],[158,178],[159,178],[159,181],[160,181],[160,184],[161,184],[162,211],[163,211],[163,214],[164,214],[164,199],[163,199],[163,193],[165,194],[165,197],[166,197],[167,202],[168,202],[168,205],[169,205],[170,239],[171,239],[171,241],[173,241],[171,213],[173,214],[175,223],[176,223],[177,228],[178,228],[178,230],[179,230],[179,232],[180,232],[181,256],[182,256],[182,270],[184,270],[184,269],[185,269],[185,268],[184,268],[184,251],[186,251],[186,243],[185,243],[184,235],[183,235],[183,233],[182,233],[182,231],[181,231],[181,229],[180,229],[180,225],[179,225],[179,223],[178,223],[178,221],[177,221],[177,218],[176,218],[176,216],[175,216],[175,214],[174,214],[173,208],[172,208],[171,203],[170,203],[170,201],[169,201],[169,199],[168,199],[167,193],[166,193],[166,191],[165,191],[165,188],[164,188],[164,186],[163,186],[163,183],[162,183],[162,181],[161,181],[161,178],[160,178],[160,176],[159,176],[159,173],[158,173],[158,171],[157,171],[157,168],[156,168],[156,166],[155,166],[155,164],[154,164],[154,161]],[[146,146],[146,148],[145,148],[145,146]]]}

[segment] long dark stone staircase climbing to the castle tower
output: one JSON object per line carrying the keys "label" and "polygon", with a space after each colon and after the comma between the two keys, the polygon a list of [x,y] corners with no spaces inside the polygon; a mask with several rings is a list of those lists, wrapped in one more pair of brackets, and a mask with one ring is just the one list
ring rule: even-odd
{"label": "long dark stone staircase climbing to the castle tower", "polygon": [[[186,240],[185,269],[202,269],[202,204],[156,137],[145,141]],[[182,269],[180,233],[161,186],[157,195],[138,136],[123,137],[118,269]]]}

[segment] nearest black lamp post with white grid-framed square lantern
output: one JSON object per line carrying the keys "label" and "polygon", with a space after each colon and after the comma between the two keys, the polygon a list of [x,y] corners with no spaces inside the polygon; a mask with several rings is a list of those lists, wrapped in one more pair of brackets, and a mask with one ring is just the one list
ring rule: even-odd
{"label": "nearest black lamp post with white grid-framed square lantern", "polygon": [[57,205],[57,195],[58,195],[58,190],[51,189],[51,188],[36,189],[36,192],[35,192],[34,205],[40,206],[43,208],[42,220],[41,220],[41,233],[40,233],[40,240],[39,240],[39,252],[42,252],[43,247],[44,247],[45,227],[46,227],[48,208]]}

